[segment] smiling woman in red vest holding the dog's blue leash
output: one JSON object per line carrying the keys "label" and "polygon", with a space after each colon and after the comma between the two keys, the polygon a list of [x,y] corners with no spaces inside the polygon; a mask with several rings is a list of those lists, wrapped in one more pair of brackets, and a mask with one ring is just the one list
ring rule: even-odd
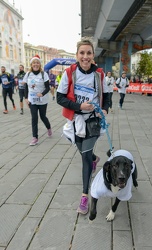
{"label": "smiling woman in red vest holding the dog's blue leash", "polygon": [[[76,131],[76,125],[86,130],[85,136],[80,137],[74,133],[75,144],[82,157],[82,180],[83,191],[78,213],[86,214],[88,212],[88,192],[92,171],[100,158],[93,153],[94,145],[99,136],[90,136],[86,121],[89,117],[94,117],[94,102],[102,107],[104,114],[107,114],[109,108],[108,89],[105,82],[105,76],[102,69],[94,63],[94,48],[90,40],[82,40],[77,43],[77,63],[67,68],[62,76],[60,85],[57,89],[57,103],[63,106],[63,116],[72,121],[73,131]],[[85,121],[76,124],[76,117],[81,115]],[[79,119],[80,121],[80,119]],[[82,125],[84,124],[84,125]]]}

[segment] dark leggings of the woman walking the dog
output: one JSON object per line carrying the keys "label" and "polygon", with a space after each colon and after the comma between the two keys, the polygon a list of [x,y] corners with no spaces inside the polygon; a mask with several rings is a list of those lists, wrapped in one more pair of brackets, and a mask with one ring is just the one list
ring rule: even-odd
{"label": "dark leggings of the woman walking the dog", "polygon": [[75,136],[75,143],[82,157],[82,181],[84,194],[88,194],[89,192],[92,165],[93,161],[96,160],[93,148],[97,139],[98,137],[80,138]]}

